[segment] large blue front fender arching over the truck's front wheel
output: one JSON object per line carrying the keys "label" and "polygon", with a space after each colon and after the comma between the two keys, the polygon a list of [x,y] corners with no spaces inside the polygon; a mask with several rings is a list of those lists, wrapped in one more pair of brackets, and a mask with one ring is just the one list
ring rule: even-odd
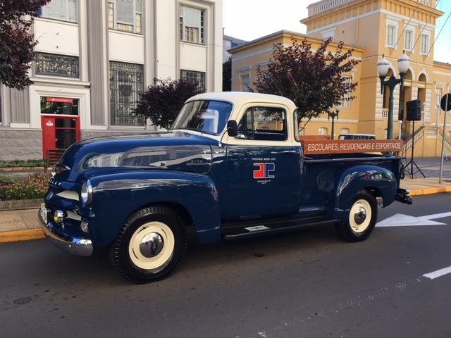
{"label": "large blue front fender arching over the truck's front wheel", "polygon": [[218,192],[205,175],[146,170],[94,176],[90,181],[99,246],[113,242],[130,215],[151,204],[178,204],[185,208],[201,242],[221,238]]}

